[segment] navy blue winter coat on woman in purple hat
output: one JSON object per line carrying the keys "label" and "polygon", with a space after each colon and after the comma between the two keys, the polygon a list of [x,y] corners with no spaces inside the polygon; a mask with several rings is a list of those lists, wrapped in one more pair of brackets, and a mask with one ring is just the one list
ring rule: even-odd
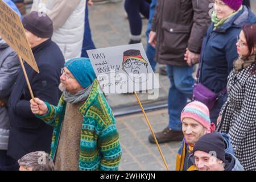
{"label": "navy blue winter coat on woman in purple hat", "polygon": [[245,23],[256,23],[256,17],[250,9],[243,6],[241,11],[216,30],[213,30],[212,23],[204,37],[200,82],[215,93],[226,87],[229,72],[238,57],[237,36]]}

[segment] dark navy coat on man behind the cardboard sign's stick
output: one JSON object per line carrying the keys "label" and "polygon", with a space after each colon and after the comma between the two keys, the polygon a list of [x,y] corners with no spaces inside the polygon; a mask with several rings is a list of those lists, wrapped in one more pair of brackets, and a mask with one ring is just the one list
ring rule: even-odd
{"label": "dark navy coat on man behind the cardboard sign's stick", "polygon": [[[48,39],[32,48],[40,73],[24,64],[35,97],[57,105],[64,57],[56,43]],[[14,159],[32,151],[50,152],[53,127],[35,117],[30,109],[30,92],[23,72],[14,84],[9,100],[10,137],[7,154]]]}

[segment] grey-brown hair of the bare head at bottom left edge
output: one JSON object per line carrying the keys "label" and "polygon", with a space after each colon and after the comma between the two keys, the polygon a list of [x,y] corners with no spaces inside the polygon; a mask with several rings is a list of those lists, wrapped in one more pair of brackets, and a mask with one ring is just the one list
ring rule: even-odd
{"label": "grey-brown hair of the bare head at bottom left edge", "polygon": [[32,171],[54,171],[51,157],[44,151],[31,152],[18,160],[19,166],[31,167]]}

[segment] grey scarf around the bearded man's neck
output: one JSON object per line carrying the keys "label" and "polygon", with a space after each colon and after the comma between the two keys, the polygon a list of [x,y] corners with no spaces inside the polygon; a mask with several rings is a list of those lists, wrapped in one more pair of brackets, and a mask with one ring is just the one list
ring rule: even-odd
{"label": "grey scarf around the bearded man's neck", "polygon": [[92,86],[93,86],[93,84],[88,86],[84,90],[81,90],[81,91],[77,92],[74,95],[68,93],[67,91],[63,92],[63,94],[64,94],[64,101],[68,102],[70,104],[76,104],[78,102],[86,101],[86,99],[88,98],[88,96],[90,94],[90,90],[92,89]]}

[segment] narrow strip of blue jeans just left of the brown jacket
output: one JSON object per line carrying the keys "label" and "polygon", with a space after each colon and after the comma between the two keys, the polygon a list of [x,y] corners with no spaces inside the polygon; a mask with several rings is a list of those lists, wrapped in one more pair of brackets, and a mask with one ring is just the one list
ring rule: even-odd
{"label": "narrow strip of blue jeans just left of the brown jacket", "polygon": [[[150,4],[150,16],[149,16],[149,19],[148,19],[147,31],[146,31],[147,42],[148,42],[148,36],[150,34],[150,31],[151,31],[151,24],[152,24],[153,16],[154,16],[154,13],[155,13],[156,3],[157,3],[157,0],[152,0],[152,2]],[[156,66],[155,48],[152,47],[148,43],[147,43],[147,46],[146,46],[146,55],[147,55],[148,61],[150,62],[150,65],[151,65],[153,71],[155,71],[155,66]]]}

